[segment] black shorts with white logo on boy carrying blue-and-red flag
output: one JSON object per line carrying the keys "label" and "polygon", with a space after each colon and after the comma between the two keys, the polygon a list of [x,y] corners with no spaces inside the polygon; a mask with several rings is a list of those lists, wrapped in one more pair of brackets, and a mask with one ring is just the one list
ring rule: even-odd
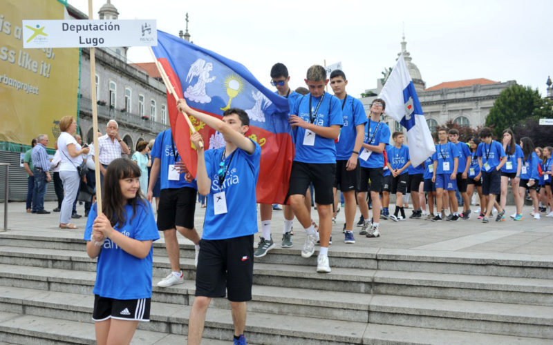
{"label": "black shorts with white logo on boy carrying blue-and-red flag", "polygon": [[247,302],[252,299],[253,279],[254,235],[200,239],[196,296],[225,297],[228,294],[231,302]]}

